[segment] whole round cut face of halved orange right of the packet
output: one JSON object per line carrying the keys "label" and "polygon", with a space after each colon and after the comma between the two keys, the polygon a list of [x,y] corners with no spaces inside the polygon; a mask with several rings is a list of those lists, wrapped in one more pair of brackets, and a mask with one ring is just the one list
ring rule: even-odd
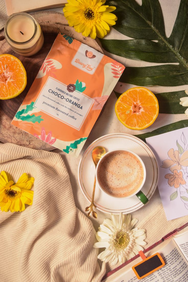
{"label": "whole round cut face of halved orange right of the packet", "polygon": [[126,127],[141,130],[154,123],[159,113],[159,104],[149,89],[134,87],[121,94],[115,112]]}

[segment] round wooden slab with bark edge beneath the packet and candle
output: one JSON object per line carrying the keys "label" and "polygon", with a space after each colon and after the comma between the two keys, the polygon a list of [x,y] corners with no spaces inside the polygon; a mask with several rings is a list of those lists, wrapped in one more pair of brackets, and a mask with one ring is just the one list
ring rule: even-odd
{"label": "round wooden slab with bark edge beneath the packet and candle", "polygon": [[75,39],[103,52],[98,43],[90,37],[84,37],[77,33],[74,28],[69,27],[63,14],[56,12],[33,12],[32,16],[39,22],[44,34],[44,45],[42,49],[31,57],[23,57],[16,54],[4,39],[4,30],[0,31],[0,53],[12,54],[23,63],[27,73],[27,85],[25,90],[16,98],[0,100],[0,141],[10,142],[34,149],[53,150],[54,147],[26,133],[25,131],[10,124],[19,106],[23,102],[30,89],[43,61],[45,60],[58,32],[67,34]]}

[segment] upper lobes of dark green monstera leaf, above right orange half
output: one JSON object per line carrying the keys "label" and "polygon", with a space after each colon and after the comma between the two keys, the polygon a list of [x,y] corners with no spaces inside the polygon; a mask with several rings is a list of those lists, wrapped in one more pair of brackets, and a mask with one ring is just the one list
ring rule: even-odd
{"label": "upper lobes of dark green monstera leaf, above right orange half", "polygon": [[188,84],[187,0],[180,1],[169,38],[165,35],[163,14],[158,0],[142,0],[141,6],[135,0],[109,0],[108,5],[116,6],[114,14],[118,21],[114,28],[134,39],[101,39],[103,48],[132,60],[161,63],[152,67],[126,67],[120,78],[121,82],[140,86]]}

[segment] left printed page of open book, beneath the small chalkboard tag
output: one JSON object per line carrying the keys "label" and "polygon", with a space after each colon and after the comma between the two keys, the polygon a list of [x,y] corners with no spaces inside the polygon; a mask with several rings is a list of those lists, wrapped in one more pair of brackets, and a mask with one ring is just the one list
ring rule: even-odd
{"label": "left printed page of open book, beneath the small chalkboard tag", "polygon": [[[132,268],[125,271],[123,274],[113,278],[115,274],[109,276],[103,282],[187,282],[188,281],[188,265],[184,256],[180,254],[176,243],[171,240],[162,250],[159,251],[165,261],[165,266],[139,280],[134,274]],[[151,255],[151,254],[150,254]],[[141,261],[141,258],[140,258]],[[134,263],[134,265],[138,263]]]}

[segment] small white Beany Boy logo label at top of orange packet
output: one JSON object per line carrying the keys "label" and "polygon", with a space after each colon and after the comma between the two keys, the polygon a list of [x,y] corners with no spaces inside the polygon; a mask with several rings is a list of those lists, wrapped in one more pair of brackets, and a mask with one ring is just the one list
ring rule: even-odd
{"label": "small white Beany Boy logo label at top of orange packet", "polygon": [[89,74],[94,74],[103,56],[95,49],[82,43],[71,64]]}

